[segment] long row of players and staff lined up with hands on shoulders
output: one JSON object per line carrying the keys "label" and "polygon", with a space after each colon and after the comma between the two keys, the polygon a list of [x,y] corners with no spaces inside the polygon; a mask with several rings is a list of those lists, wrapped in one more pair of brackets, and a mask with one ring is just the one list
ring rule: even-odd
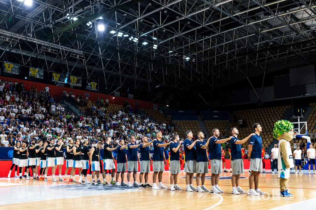
{"label": "long row of players and staff lined up with hands on shoulders", "polygon": [[[182,141],[179,141],[178,135],[173,135],[173,139],[169,143],[163,143],[162,141],[162,133],[157,132],[156,138],[152,142],[148,142],[147,137],[143,137],[143,143],[136,144],[136,137],[131,136],[131,142],[125,145],[124,139],[119,141],[119,146],[116,148],[112,148],[110,145],[111,137],[106,137],[106,143],[104,145],[104,155],[103,155],[103,184],[108,185],[105,179],[105,170],[112,170],[117,168],[116,181],[114,181],[115,172],[112,170],[112,180],[111,184],[115,184],[115,186],[127,185],[127,187],[140,186],[141,188],[152,187],[154,190],[159,189],[167,189],[162,184],[162,172],[164,171],[164,166],[167,165],[164,147],[170,144],[170,190],[182,190],[177,185],[178,173],[180,172],[180,153],[185,152],[185,182],[186,182],[186,191],[197,191],[204,192],[209,191],[213,193],[221,193],[224,192],[218,186],[219,182],[219,174],[222,173],[222,149],[221,144],[227,141],[230,141],[231,145],[231,167],[233,170],[232,173],[232,194],[240,194],[246,193],[246,191],[242,190],[239,186],[239,176],[241,173],[244,173],[244,166],[242,160],[241,153],[241,144],[245,143],[249,138],[250,147],[249,147],[249,158],[250,161],[250,170],[252,171],[249,179],[250,190],[248,191],[248,195],[260,195],[263,194],[262,191],[258,189],[258,175],[262,170],[262,139],[260,136],[260,132],[262,131],[262,127],[260,124],[255,124],[253,126],[255,133],[250,134],[245,139],[239,140],[238,134],[239,131],[237,128],[231,128],[230,132],[232,134],[231,137],[226,139],[218,139],[220,136],[220,132],[217,128],[213,129],[213,137],[210,137],[207,141],[204,140],[204,133],[197,133],[197,140],[193,141],[193,134],[191,131],[187,131],[185,133],[186,139],[183,141],[184,151],[180,151],[180,146]],[[150,160],[149,155],[149,145],[153,143],[154,153],[152,161]],[[31,145],[26,147],[25,143],[22,143],[21,148],[19,144],[17,144],[14,148],[14,159],[13,165],[18,164],[20,167],[20,174],[22,167],[27,167],[27,174],[29,167],[32,166],[33,173],[37,171],[38,166],[40,166],[40,175],[44,177],[40,177],[40,180],[47,181],[47,171],[49,167],[52,167],[52,181],[57,181],[55,179],[55,170],[59,169],[59,181],[67,182],[66,176],[69,168],[70,170],[70,182],[77,183],[75,180],[75,171],[76,168],[79,168],[80,179],[78,183],[90,183],[87,180],[87,170],[89,168],[89,160],[91,164],[91,169],[93,171],[92,174],[92,184],[100,184],[100,148],[102,143],[98,142],[95,147],[93,147],[90,151],[87,147],[87,140],[83,140],[82,146],[80,146],[80,139],[77,139],[75,145],[73,144],[73,140],[70,140],[67,145],[67,154],[66,154],[66,171],[65,178],[62,179],[61,175],[61,166],[64,164],[64,156],[62,152],[63,142],[61,139],[58,139],[58,143],[54,145],[54,140],[51,140],[50,144],[39,141],[38,145],[35,144],[33,140]],[[126,155],[126,148],[129,150],[129,155]],[[140,149],[141,154],[138,154],[138,147]],[[117,149],[117,166],[114,164],[114,157],[112,151]],[[207,155],[206,150],[209,150],[209,156]],[[19,153],[19,155],[18,155]],[[28,153],[28,158],[27,158]],[[47,158],[46,158],[47,157]],[[126,165],[126,163],[128,164]],[[138,172],[138,163],[140,163],[140,175],[139,180],[140,184],[137,183],[136,175]],[[150,165],[153,165],[153,186],[148,184],[148,173],[150,172]],[[205,174],[208,173],[208,165],[211,165],[211,190],[205,187]],[[128,183],[124,182],[124,172],[127,167],[127,180]],[[45,170],[44,170],[45,168]],[[11,171],[10,171],[11,172]],[[131,172],[133,172],[134,183],[131,184],[130,177]],[[119,173],[121,173],[121,183],[118,182]],[[196,173],[196,184],[197,188],[192,185],[193,182],[193,174]],[[27,178],[28,175],[26,174]],[[97,174],[97,182],[95,182],[94,177]],[[145,184],[142,183],[143,175],[145,174]],[[9,174],[10,175],[10,174]],[[156,178],[158,175],[158,186],[156,185]],[[201,175],[201,184],[200,186],[200,175]],[[257,176],[257,177],[256,177]],[[83,180],[83,177],[85,180]],[[256,177],[256,178],[255,178]],[[22,177],[20,177],[22,178]],[[34,179],[36,179],[36,174],[34,174]],[[174,185],[173,185],[174,182]],[[255,183],[255,189],[252,189],[252,182]]]}

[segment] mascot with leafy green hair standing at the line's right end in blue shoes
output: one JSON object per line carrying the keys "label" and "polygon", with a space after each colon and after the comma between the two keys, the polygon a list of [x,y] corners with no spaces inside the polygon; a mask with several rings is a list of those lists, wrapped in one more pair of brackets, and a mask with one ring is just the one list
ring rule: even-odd
{"label": "mascot with leafy green hair standing at the line's right end in blue shoes", "polygon": [[286,185],[289,182],[290,168],[294,167],[290,141],[295,138],[293,124],[288,120],[279,120],[274,124],[273,137],[279,140],[278,177],[280,177],[280,192],[283,197],[290,197]]}

